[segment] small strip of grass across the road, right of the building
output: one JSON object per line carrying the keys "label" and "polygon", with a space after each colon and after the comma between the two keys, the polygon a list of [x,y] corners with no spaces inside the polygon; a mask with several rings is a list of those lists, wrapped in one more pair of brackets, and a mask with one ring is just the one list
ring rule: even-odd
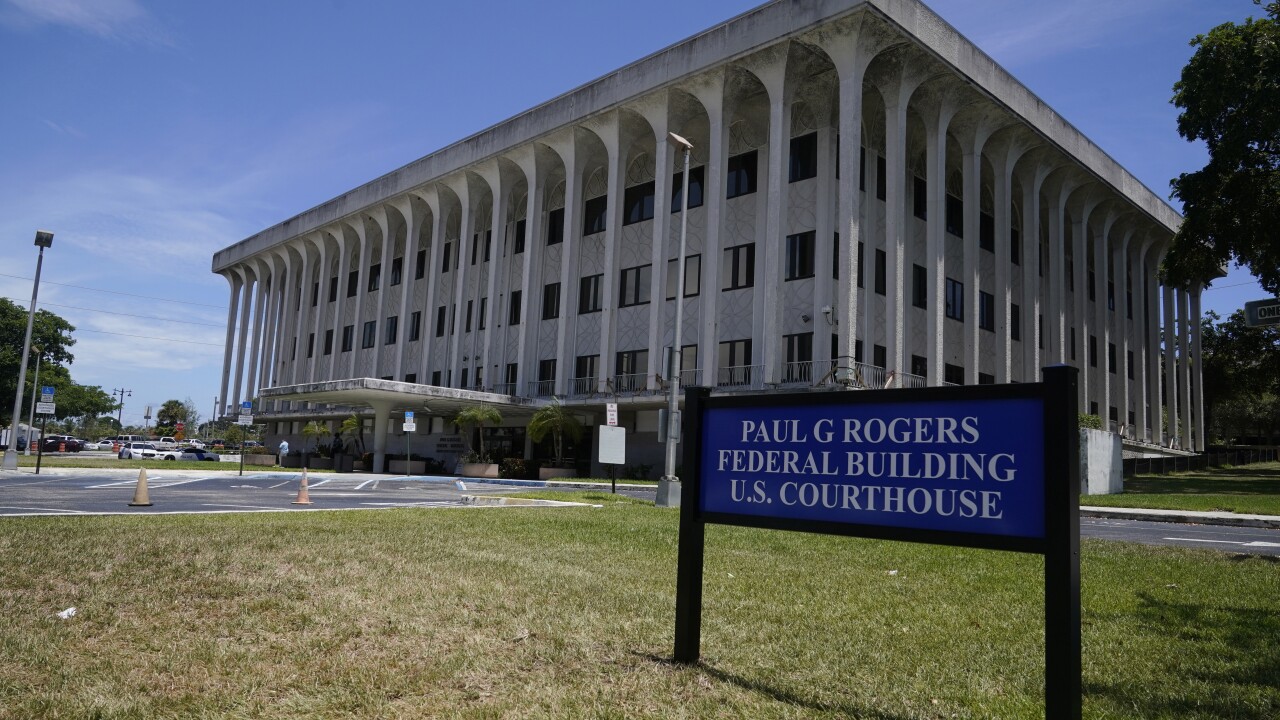
{"label": "small strip of grass across the road, right of the building", "polygon": [[1080,505],[1280,515],[1280,462],[1138,475],[1125,479],[1124,493],[1082,496]]}

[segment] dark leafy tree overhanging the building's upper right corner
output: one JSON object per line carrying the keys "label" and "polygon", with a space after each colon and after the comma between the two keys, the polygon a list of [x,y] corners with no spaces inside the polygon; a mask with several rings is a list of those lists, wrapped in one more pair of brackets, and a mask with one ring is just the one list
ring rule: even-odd
{"label": "dark leafy tree overhanging the building's upper right corner", "polygon": [[[1261,0],[1254,0],[1261,5]],[[1280,1],[1270,17],[1192,40],[1174,85],[1178,132],[1208,146],[1203,169],[1174,179],[1183,225],[1165,258],[1171,284],[1215,277],[1231,258],[1280,295]]]}

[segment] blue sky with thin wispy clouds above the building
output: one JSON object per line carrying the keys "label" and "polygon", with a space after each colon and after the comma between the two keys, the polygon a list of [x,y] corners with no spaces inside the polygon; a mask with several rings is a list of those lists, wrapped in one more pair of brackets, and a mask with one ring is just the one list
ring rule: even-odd
{"label": "blue sky with thin wispy clouds above the building", "polygon": [[[754,0],[0,0],[0,295],[77,327],[72,375],[143,407],[219,392],[212,254],[749,10]],[[1188,41],[1249,0],[929,5],[1167,196],[1203,149],[1175,129]],[[1204,293],[1265,297],[1247,270]]]}

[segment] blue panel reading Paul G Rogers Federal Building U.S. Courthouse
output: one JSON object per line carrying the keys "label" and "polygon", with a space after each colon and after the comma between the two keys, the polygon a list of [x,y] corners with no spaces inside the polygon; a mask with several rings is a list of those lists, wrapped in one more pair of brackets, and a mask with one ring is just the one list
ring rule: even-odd
{"label": "blue panel reading Paul G Rogers Federal Building U.S. Courthouse", "polygon": [[708,406],[704,512],[1044,538],[1037,397]]}

